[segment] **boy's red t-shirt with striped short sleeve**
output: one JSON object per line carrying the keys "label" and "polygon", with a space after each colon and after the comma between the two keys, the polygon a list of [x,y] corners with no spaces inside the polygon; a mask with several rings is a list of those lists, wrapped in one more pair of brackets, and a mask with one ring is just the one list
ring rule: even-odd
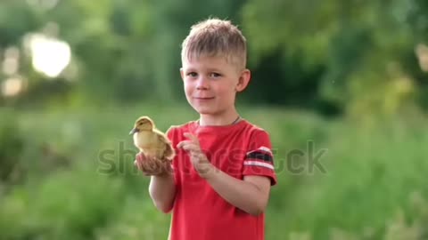
{"label": "boy's red t-shirt with striped short sleeve", "polygon": [[[242,120],[228,126],[200,126],[197,121],[169,129],[174,148],[187,140],[184,132],[198,137],[202,151],[218,169],[243,180],[244,175],[267,176],[276,184],[268,133]],[[226,202],[193,168],[190,158],[177,149],[173,161],[176,198],[172,210],[171,240],[262,240],[264,213],[253,216]]]}

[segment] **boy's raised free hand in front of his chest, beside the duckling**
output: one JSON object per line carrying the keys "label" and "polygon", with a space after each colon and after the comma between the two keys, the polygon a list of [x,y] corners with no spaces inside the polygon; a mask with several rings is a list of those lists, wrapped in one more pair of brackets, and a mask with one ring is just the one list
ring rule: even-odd
{"label": "boy's raised free hand in front of his chest, beside the duckling", "polygon": [[177,148],[182,148],[189,154],[194,169],[204,178],[212,165],[207,156],[202,152],[198,138],[190,132],[185,132],[183,135],[189,140],[180,141],[177,144]]}

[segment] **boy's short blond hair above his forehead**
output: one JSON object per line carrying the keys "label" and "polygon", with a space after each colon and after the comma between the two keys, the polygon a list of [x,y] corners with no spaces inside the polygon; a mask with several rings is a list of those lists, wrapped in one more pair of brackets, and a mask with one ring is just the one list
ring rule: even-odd
{"label": "boy's short blond hair above his forehead", "polygon": [[201,55],[224,56],[243,69],[247,61],[246,39],[229,20],[203,20],[193,25],[185,37],[181,59],[192,60]]}

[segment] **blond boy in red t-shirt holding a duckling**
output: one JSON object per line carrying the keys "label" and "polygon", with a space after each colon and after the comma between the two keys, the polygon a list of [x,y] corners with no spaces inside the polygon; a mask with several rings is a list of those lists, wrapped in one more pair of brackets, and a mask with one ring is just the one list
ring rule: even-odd
{"label": "blond boy in red t-shirt holding a duckling", "polygon": [[173,126],[177,156],[151,175],[150,196],[172,210],[171,240],[264,239],[264,211],[276,184],[268,133],[238,115],[236,92],[250,81],[246,40],[226,20],[204,20],[183,42],[180,74],[198,121]]}

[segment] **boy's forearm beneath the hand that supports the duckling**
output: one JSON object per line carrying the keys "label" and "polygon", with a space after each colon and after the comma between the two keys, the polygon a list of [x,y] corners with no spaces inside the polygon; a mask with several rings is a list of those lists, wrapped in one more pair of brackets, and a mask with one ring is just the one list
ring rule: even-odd
{"label": "boy's forearm beneath the hand that supports the duckling", "polygon": [[149,193],[153,204],[162,212],[169,212],[174,204],[176,185],[172,174],[152,176]]}

